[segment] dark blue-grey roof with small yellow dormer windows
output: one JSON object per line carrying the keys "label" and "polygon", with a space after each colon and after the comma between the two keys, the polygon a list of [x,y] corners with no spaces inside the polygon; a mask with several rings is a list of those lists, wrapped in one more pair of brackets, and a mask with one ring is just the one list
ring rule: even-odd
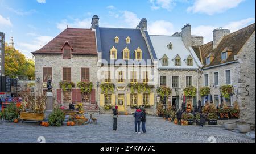
{"label": "dark blue-grey roof with small yellow dormer windows", "polygon": [[[156,54],[152,48],[150,37],[147,31],[146,37],[149,39],[148,44],[151,47],[151,52],[153,58],[156,59]],[[119,43],[115,43],[115,36],[119,37]],[[126,44],[127,36],[130,37],[130,44]],[[115,47],[117,49],[117,60],[123,59],[123,49],[127,47],[130,50],[130,59],[135,59],[134,51],[139,47],[142,50],[142,59],[151,60],[149,50],[146,45],[140,29],[129,29],[129,28],[102,28],[96,26],[96,40],[97,40],[97,50],[102,53],[102,59],[105,59],[110,63],[110,49]],[[127,61],[126,61],[127,63]]]}

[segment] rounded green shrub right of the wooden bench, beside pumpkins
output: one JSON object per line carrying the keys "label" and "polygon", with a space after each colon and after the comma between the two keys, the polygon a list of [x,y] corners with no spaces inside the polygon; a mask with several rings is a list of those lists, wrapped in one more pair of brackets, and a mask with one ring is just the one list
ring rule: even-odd
{"label": "rounded green shrub right of the wooden bench, beside pumpkins", "polygon": [[64,112],[59,108],[55,108],[53,109],[53,112],[49,115],[49,124],[51,126],[60,127],[64,119],[65,119]]}

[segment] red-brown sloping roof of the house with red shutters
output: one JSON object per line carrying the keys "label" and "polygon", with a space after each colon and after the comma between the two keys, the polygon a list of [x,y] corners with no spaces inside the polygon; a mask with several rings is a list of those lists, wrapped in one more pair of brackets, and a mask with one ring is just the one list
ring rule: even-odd
{"label": "red-brown sloping roof of the house with red shutters", "polygon": [[72,48],[72,54],[97,55],[95,32],[92,29],[67,28],[32,54],[62,54],[64,45]]}

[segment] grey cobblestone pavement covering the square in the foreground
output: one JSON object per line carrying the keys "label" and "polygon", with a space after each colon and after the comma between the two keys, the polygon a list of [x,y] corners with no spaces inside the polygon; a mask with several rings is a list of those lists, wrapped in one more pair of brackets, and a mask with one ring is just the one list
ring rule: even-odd
{"label": "grey cobblestone pavement covering the square in the foreground", "polygon": [[[112,115],[94,115],[97,125],[43,127],[36,123],[0,122],[0,142],[37,142],[44,136],[46,142],[254,142],[246,134],[216,126],[178,126],[160,117],[147,116],[146,134],[135,134],[132,115],[119,115],[118,131],[113,131]],[[86,117],[89,117],[88,115]]]}

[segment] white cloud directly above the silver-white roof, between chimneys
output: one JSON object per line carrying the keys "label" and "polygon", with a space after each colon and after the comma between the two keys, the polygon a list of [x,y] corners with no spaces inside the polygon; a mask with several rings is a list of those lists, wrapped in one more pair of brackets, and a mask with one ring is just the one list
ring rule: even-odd
{"label": "white cloud directly above the silver-white roof, between chimneys", "polygon": [[171,22],[157,20],[148,24],[148,33],[150,35],[172,35],[174,33],[174,26]]}

